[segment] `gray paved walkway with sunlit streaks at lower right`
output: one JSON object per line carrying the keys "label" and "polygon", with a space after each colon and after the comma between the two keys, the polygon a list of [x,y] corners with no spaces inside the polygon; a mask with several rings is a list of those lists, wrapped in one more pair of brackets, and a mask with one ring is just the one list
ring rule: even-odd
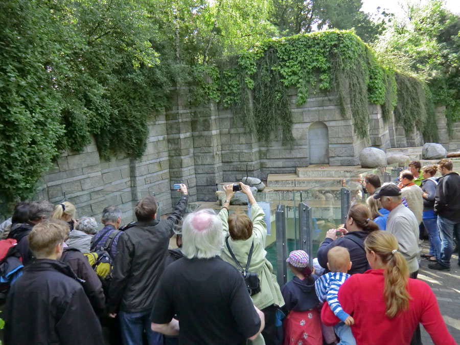
{"label": "gray paved walkway with sunlit streaks at lower right", "polygon": [[[422,243],[422,252],[427,253],[428,241]],[[447,329],[460,344],[460,266],[458,256],[452,256],[450,272],[428,268],[428,260],[422,259],[418,279],[428,283],[438,300]],[[433,344],[429,334],[422,328],[423,345]]]}

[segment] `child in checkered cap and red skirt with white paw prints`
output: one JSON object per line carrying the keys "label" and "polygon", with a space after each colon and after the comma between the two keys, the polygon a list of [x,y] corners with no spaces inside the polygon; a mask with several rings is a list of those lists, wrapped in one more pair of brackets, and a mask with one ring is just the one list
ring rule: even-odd
{"label": "child in checkered cap and red skirt with white paw prints", "polygon": [[294,250],[286,260],[294,278],[282,289],[284,298],[283,321],[284,345],[323,345],[323,334],[319,318],[319,300],[315,292],[318,278],[309,266],[308,254]]}

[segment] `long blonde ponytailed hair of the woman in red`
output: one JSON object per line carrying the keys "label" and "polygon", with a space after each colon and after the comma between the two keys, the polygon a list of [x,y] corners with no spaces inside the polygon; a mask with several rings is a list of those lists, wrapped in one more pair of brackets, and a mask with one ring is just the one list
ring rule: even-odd
{"label": "long blonde ponytailed hair of the woman in red", "polygon": [[407,291],[409,268],[402,254],[397,250],[396,237],[385,231],[375,231],[364,240],[367,251],[373,251],[380,257],[386,269],[383,297],[386,305],[385,315],[393,318],[399,312],[409,308],[411,296]]}

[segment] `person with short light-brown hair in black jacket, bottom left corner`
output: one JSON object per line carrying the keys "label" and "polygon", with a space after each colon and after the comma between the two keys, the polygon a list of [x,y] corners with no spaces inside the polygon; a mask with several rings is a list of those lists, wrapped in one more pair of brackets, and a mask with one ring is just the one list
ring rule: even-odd
{"label": "person with short light-brown hair in black jacket, bottom left corner", "polygon": [[5,344],[104,343],[101,325],[72,269],[58,261],[68,224],[47,219],[29,234],[36,260],[11,286],[5,306]]}

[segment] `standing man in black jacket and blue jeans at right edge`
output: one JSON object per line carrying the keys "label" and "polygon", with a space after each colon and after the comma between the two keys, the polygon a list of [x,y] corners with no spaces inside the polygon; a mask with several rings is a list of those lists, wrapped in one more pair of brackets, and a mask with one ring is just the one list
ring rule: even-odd
{"label": "standing man in black jacket and blue jeans at right edge", "polygon": [[[431,269],[450,271],[450,258],[453,251],[453,236],[460,238],[460,176],[453,172],[450,159],[441,159],[438,163],[441,176],[434,194],[434,214],[438,215],[438,227],[441,234],[441,259],[429,264]],[[459,259],[460,260],[460,259]],[[458,262],[460,265],[460,261]]]}

